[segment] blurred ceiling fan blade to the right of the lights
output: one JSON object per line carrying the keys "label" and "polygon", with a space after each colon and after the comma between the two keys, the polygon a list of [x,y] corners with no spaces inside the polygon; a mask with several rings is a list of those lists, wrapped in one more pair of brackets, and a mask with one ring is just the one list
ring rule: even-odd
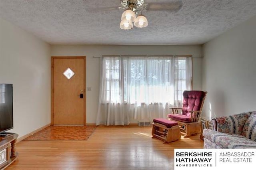
{"label": "blurred ceiling fan blade to the right of the lights", "polygon": [[180,8],[182,8],[183,2],[182,0],[174,1],[174,2],[152,2],[145,4],[145,9],[148,11],[170,11],[170,12],[178,12]]}

